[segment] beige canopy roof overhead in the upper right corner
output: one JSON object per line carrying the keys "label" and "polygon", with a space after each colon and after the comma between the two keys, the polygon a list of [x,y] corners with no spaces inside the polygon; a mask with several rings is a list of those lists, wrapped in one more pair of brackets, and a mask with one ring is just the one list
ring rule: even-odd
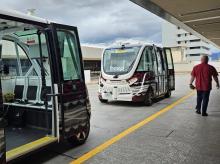
{"label": "beige canopy roof overhead in the upper right corner", "polygon": [[131,0],[161,18],[220,47],[219,0]]}

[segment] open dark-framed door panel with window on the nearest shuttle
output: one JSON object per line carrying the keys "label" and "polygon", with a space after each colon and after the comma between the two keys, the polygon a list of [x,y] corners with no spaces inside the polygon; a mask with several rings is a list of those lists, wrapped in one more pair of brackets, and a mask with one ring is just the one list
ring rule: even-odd
{"label": "open dark-framed door panel with window on the nearest shuttle", "polygon": [[[52,24],[56,49],[61,132],[68,138],[89,121],[89,101],[76,27]],[[55,79],[56,80],[56,79]]]}

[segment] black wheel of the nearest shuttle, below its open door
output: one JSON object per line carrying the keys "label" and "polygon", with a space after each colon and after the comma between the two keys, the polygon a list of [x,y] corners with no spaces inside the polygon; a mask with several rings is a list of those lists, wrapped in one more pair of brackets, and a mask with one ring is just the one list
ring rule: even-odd
{"label": "black wheel of the nearest shuttle, below its open door", "polygon": [[86,142],[90,132],[90,120],[86,121],[86,125],[84,127],[80,127],[78,132],[72,137],[68,138],[68,141],[74,145],[82,145]]}

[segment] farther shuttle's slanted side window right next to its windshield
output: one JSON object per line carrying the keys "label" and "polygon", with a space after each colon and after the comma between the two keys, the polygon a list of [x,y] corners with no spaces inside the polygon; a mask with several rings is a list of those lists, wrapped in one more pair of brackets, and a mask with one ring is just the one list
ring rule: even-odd
{"label": "farther shuttle's slanted side window right next to its windshield", "polygon": [[137,71],[152,71],[153,70],[153,52],[151,47],[146,47],[141,56]]}

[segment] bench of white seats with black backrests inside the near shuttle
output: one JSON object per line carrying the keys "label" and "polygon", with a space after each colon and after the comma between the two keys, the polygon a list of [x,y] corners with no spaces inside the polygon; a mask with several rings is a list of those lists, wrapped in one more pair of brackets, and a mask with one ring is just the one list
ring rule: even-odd
{"label": "bench of white seats with black backrests inside the near shuttle", "polygon": [[[42,94],[41,79],[38,76],[24,76],[17,78],[15,81],[15,101],[4,102],[4,106],[7,109],[9,126],[22,128],[28,126],[46,129],[47,122],[45,117],[47,116],[49,127],[51,127],[52,103],[50,103],[50,106],[48,103],[48,111],[45,112],[44,101],[40,97]],[[47,89],[49,90],[50,88],[48,86]]]}

